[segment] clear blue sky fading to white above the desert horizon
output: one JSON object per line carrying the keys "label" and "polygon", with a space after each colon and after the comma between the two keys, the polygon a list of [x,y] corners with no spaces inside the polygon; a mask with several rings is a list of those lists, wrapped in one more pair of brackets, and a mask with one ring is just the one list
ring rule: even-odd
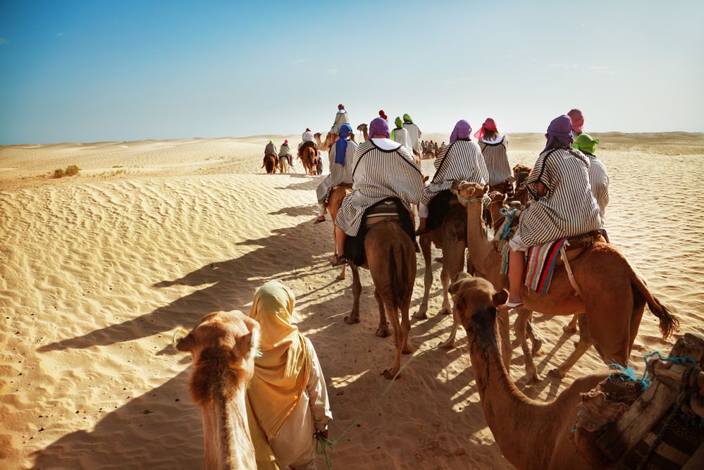
{"label": "clear blue sky fading to white above the desert horizon", "polygon": [[0,0],[0,144],[299,134],[704,132],[704,1]]}

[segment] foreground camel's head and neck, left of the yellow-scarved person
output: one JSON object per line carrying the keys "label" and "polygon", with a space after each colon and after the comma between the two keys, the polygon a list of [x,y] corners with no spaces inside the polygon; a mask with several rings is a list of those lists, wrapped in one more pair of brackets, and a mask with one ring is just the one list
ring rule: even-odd
{"label": "foreground camel's head and neck, left of the yellow-scarved person", "polygon": [[203,416],[206,469],[257,469],[245,390],[258,340],[257,321],[216,311],[176,342],[176,349],[193,358],[190,392]]}

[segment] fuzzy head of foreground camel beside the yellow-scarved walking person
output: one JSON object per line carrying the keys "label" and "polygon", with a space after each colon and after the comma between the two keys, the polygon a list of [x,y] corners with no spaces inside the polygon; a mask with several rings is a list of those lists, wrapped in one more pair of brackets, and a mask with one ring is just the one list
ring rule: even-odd
{"label": "fuzzy head of foreground camel beside the yellow-scarved walking person", "polygon": [[198,404],[211,402],[218,390],[234,394],[254,375],[259,323],[240,311],[207,314],[190,333],[174,339],[176,349],[193,358],[190,390]]}

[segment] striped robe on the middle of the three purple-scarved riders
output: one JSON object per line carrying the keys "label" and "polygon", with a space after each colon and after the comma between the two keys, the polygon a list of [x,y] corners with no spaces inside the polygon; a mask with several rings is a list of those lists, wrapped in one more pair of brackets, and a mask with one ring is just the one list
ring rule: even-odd
{"label": "striped robe on the middle of the three purple-scarved riders", "polygon": [[438,193],[449,190],[453,181],[486,185],[489,178],[479,146],[469,139],[457,139],[452,144],[445,145],[433,164],[436,172],[431,183],[423,188],[423,204],[430,204]]}

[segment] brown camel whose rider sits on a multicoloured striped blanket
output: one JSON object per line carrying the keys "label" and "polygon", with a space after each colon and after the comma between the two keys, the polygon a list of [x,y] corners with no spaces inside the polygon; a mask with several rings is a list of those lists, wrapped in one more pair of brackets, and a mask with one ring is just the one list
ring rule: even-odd
{"label": "brown camel whose rider sits on a multicoloured striped blanket", "polygon": [[[500,274],[501,254],[495,249],[494,242],[486,237],[481,204],[484,191],[485,188],[476,183],[462,182],[452,186],[452,192],[466,201],[467,246],[475,274],[489,280],[496,290],[500,290],[508,286],[508,277]],[[645,280],[634,271],[623,254],[603,239],[586,245],[579,257],[569,261],[569,265],[581,296],[576,295],[564,265],[555,266],[547,295],[529,290],[525,285],[521,286],[524,305],[517,309],[519,318],[515,328],[526,358],[526,373],[531,382],[538,381],[533,356],[526,345],[526,325],[533,311],[547,315],[584,313],[579,315],[581,334],[574,352],[557,369],[549,372],[551,376],[559,378],[564,378],[591,345],[594,345],[606,364],[625,365],[646,304],[660,320],[663,338],[669,337],[679,325],[679,321],[650,293]],[[608,276],[603,276],[603,273],[608,273]],[[457,321],[450,333],[451,338],[455,337],[456,330]],[[507,336],[507,331],[502,332],[502,339]],[[510,350],[503,352],[510,354]]]}

